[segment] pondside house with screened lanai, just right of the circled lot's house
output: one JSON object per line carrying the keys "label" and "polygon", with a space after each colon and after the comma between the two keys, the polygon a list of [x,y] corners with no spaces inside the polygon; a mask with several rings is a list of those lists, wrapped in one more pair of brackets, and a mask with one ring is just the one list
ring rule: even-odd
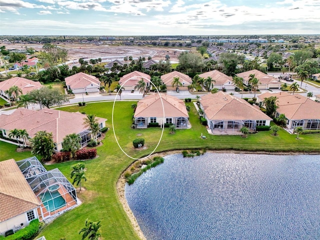
{"label": "pondside house with screened lanai, just right of the circled lot's house", "polygon": [[200,107],[213,134],[240,134],[242,126],[255,131],[256,126],[269,126],[272,120],[258,106],[222,91],[201,96]]}

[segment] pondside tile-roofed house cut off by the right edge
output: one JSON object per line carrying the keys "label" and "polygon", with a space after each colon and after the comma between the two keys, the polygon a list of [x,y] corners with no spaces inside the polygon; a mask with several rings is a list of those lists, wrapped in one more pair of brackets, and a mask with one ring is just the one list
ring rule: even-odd
{"label": "pondside tile-roofed house cut off by the right edge", "polygon": [[258,96],[258,101],[264,106],[264,98],[276,96],[277,109],[275,117],[284,114],[287,122],[286,127],[293,129],[301,126],[303,129],[320,129],[320,103],[313,101],[300,94],[287,92],[269,93],[264,92]]}

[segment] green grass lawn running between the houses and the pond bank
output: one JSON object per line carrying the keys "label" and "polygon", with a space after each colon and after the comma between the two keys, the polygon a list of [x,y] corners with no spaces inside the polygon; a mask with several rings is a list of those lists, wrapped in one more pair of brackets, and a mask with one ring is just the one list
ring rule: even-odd
{"label": "green grass lawn running between the houses and the pond bank", "polygon": [[[121,172],[133,161],[126,157],[117,146],[117,140],[125,152],[134,157],[141,157],[150,153],[156,146],[160,135],[160,128],[131,129],[132,109],[131,104],[136,101],[118,101],[114,108],[114,126],[111,124],[111,102],[87,103],[85,106],[67,106],[59,109],[66,111],[85,111],[105,117],[106,132],[103,145],[97,147],[98,157],[85,161],[87,181],[82,186],[85,191],[78,194],[82,204],[68,211],[44,227],[39,235],[44,235],[47,240],[56,240],[65,237],[68,240],[79,239],[78,231],[83,227],[86,218],[101,220],[101,235],[103,239],[138,239],[131,227],[116,194],[116,181]],[[163,137],[156,151],[186,148],[208,149],[236,149],[249,151],[319,151],[320,134],[296,135],[288,134],[285,130],[278,131],[277,136],[272,136],[271,131],[261,131],[249,134],[247,138],[240,135],[210,135],[205,126],[199,124],[196,109],[192,103],[189,113],[190,129],[178,129],[175,134],[170,134],[165,128]],[[206,139],[200,138],[201,133]],[[141,134],[141,135],[140,135]],[[145,139],[145,150],[134,150],[132,140],[137,137]],[[27,152],[16,153],[15,146],[0,142],[0,160],[14,157],[16,160],[27,157]],[[21,154],[21,155],[19,155]],[[53,165],[46,165],[47,169],[58,167],[69,178],[70,165],[74,161]]]}

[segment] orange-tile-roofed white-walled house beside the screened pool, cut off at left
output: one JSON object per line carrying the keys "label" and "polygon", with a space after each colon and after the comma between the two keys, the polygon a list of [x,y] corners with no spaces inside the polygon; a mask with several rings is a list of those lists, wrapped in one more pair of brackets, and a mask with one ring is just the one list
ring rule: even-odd
{"label": "orange-tile-roofed white-walled house beside the screened pool, cut off at left", "polygon": [[14,159],[0,161],[0,235],[17,231],[38,218],[40,201]]}

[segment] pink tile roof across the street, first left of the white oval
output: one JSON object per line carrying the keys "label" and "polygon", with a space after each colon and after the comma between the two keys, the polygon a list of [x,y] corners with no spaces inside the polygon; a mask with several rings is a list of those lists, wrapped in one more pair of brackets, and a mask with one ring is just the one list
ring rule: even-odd
{"label": "pink tile roof across the street, first left of the white oval", "polygon": [[78,72],[74,75],[65,77],[64,80],[65,85],[70,86],[71,89],[83,88],[88,86],[89,84],[100,85],[100,81],[98,78],[83,72]]}

